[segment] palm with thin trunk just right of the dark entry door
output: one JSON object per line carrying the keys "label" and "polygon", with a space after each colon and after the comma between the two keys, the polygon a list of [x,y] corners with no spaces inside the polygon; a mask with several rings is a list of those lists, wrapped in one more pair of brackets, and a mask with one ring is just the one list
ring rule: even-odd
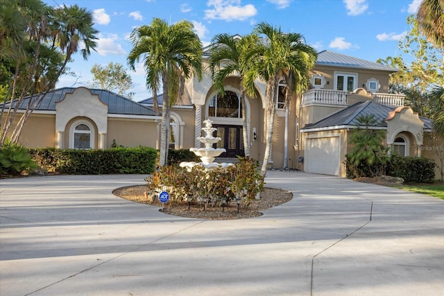
{"label": "palm with thin trunk just right of the dark entry door", "polygon": [[[239,75],[241,81],[244,80],[244,71],[241,69],[241,57],[245,52],[255,46],[257,35],[245,35],[241,38],[230,36],[226,33],[214,36],[212,40],[212,51],[210,55],[210,70],[214,82],[214,87],[220,94],[225,93],[225,78],[230,75]],[[248,143],[248,127],[246,120],[246,99],[244,87],[241,84],[241,105],[242,105],[242,130],[244,137],[244,153],[250,156],[250,145]]]}

